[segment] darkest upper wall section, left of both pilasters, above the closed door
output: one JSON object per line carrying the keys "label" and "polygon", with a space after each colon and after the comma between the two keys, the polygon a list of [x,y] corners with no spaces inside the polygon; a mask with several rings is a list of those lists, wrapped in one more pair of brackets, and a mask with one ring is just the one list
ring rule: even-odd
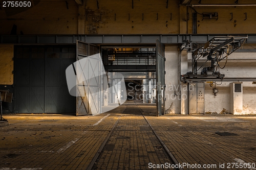
{"label": "darkest upper wall section, left of both pilasters, above the closed door", "polygon": [[[32,1],[32,3],[35,1]],[[32,8],[3,8],[0,10],[0,35],[10,35],[13,25],[17,35],[77,34],[78,7],[75,1],[46,1],[32,4]],[[2,6],[2,5],[1,5]],[[18,12],[15,12],[18,10]]]}

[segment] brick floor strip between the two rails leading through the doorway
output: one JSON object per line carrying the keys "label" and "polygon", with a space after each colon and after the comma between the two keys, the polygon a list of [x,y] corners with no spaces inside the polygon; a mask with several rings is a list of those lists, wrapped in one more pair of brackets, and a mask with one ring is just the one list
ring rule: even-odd
{"label": "brick floor strip between the two rails leading through the doorway", "polygon": [[107,146],[97,163],[97,169],[150,169],[150,162],[170,162],[134,103],[125,104],[125,110]]}

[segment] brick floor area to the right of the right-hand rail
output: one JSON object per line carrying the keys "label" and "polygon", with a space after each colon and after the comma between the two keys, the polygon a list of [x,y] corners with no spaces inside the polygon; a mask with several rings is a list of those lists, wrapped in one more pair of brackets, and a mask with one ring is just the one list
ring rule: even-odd
{"label": "brick floor area to the right of the right-hand rail", "polygon": [[[142,105],[140,108],[145,112],[148,110],[148,106]],[[146,117],[179,163],[217,165],[217,168],[209,169],[256,169],[227,168],[228,163],[256,163],[256,116]],[[216,132],[229,132],[238,136],[220,136]],[[226,168],[219,168],[220,163],[225,163]]]}

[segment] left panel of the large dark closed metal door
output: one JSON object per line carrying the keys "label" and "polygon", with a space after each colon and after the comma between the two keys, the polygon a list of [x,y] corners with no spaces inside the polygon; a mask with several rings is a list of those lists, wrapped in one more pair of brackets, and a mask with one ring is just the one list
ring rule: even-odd
{"label": "left panel of the large dark closed metal door", "polygon": [[15,49],[14,112],[44,113],[44,47]]}

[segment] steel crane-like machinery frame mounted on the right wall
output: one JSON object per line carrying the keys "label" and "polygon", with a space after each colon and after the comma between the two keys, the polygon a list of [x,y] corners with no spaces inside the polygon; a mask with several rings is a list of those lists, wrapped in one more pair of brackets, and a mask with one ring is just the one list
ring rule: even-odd
{"label": "steel crane-like machinery frame mounted on the right wall", "polygon": [[[199,48],[193,49],[193,42],[186,45],[183,50],[192,53],[192,71],[182,75],[182,78],[224,78],[225,75],[220,73],[220,68],[223,69],[226,66],[228,56],[237,51],[247,38],[247,36],[216,36]],[[198,60],[202,58],[206,58],[206,61],[198,68]],[[222,60],[226,60],[223,66],[220,65]],[[210,62],[210,66],[203,67],[207,61]]]}

